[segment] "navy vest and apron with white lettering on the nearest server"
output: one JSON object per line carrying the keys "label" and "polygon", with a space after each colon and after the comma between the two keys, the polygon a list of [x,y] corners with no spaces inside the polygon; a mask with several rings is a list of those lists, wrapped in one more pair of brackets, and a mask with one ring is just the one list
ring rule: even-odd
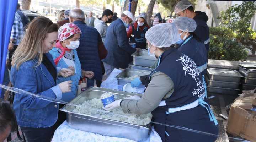
{"label": "navy vest and apron with white lettering on the nearest server", "polygon": [[[173,81],[174,92],[169,98],[163,99],[159,106],[151,112],[153,121],[218,135],[217,120],[209,105],[203,101],[205,85],[195,62],[175,48],[164,51],[159,58],[158,66],[146,78],[145,90],[150,83],[151,75],[155,72],[162,72]],[[163,142],[215,141],[217,139],[217,137],[185,130],[174,130],[164,125],[153,125]]]}

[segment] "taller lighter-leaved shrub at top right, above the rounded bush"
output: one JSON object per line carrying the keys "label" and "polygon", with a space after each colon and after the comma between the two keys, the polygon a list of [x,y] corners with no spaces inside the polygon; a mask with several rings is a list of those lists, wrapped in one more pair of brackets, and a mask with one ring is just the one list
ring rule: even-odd
{"label": "taller lighter-leaved shrub at top right, above the rounded bush", "polygon": [[243,38],[248,39],[251,35],[251,18],[256,11],[254,1],[245,1],[241,5],[233,5],[225,12],[220,12],[218,19],[221,20],[221,25],[227,26],[229,29],[237,33],[236,39],[241,42]]}

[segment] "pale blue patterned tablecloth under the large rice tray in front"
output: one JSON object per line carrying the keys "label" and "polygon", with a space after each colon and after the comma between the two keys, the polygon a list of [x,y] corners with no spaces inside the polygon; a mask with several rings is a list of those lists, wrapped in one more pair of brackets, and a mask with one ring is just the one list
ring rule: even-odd
{"label": "pale blue patterned tablecloth under the large rice tray in front", "polygon": [[[54,132],[52,142],[135,142],[126,138],[117,138],[103,136],[96,133],[73,129],[64,121]],[[154,131],[154,127],[146,141],[144,142],[161,142],[161,138]]]}

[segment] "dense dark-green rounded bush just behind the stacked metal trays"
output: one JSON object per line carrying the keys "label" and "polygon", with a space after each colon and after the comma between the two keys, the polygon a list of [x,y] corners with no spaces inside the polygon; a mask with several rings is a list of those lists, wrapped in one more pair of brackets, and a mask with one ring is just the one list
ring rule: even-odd
{"label": "dense dark-green rounded bush just behind the stacked metal trays", "polygon": [[248,51],[234,41],[235,33],[226,27],[210,27],[208,59],[246,61]]}

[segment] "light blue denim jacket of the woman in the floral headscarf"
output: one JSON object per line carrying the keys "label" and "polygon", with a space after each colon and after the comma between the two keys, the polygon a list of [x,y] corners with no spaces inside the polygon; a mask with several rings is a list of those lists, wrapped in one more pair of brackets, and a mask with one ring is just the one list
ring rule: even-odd
{"label": "light blue denim jacket of the woman in the floral headscarf", "polygon": [[[60,55],[57,48],[53,48],[52,50],[50,50],[49,53],[52,54],[54,60]],[[57,84],[62,83],[64,81],[69,81],[69,80],[72,81],[71,92],[66,92],[66,93],[62,94],[61,100],[65,101],[65,102],[70,102],[72,99],[74,99],[76,97],[78,83],[79,83],[81,73],[82,73],[81,64],[78,59],[76,50],[73,50],[73,53],[75,54],[75,67],[76,67],[75,75],[67,77],[67,78],[58,77],[56,80]],[[62,58],[65,58],[65,57],[62,57]],[[59,63],[57,64],[57,67],[68,68],[69,66],[66,64],[66,62],[63,59],[60,59]]]}

